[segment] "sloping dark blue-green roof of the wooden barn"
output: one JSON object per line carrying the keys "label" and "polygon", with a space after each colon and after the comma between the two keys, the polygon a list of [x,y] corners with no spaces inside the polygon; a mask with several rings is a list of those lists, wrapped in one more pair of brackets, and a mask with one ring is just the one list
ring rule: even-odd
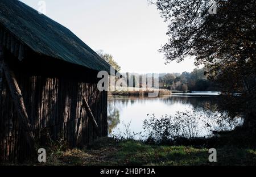
{"label": "sloping dark blue-green roof of the wooden barn", "polygon": [[68,28],[18,0],[0,1],[0,24],[36,53],[110,73],[110,65]]}

